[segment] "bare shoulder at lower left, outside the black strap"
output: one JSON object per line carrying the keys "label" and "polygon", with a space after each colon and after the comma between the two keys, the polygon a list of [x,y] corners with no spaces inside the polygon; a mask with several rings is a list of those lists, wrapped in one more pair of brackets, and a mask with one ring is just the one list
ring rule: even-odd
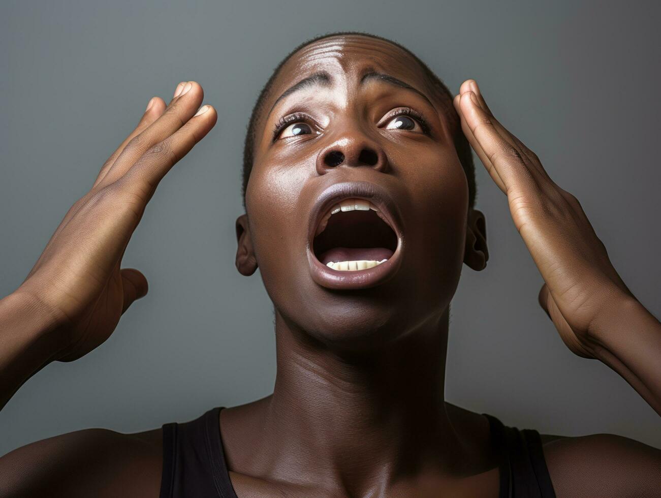
{"label": "bare shoulder at lower left, outside the black strap", "polygon": [[0,496],[157,498],[161,433],[85,429],[26,444],[0,457]]}

